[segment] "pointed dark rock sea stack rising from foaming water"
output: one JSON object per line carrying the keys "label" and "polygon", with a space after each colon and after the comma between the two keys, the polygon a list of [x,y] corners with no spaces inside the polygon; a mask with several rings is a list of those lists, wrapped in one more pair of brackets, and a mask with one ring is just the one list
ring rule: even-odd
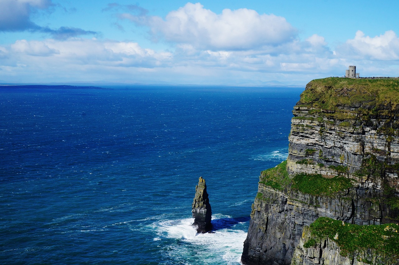
{"label": "pointed dark rock sea stack rising from foaming water", "polygon": [[205,179],[199,177],[194,196],[192,213],[194,217],[193,226],[197,227],[198,233],[206,233],[212,230],[212,210],[209,204],[208,193],[206,192]]}

